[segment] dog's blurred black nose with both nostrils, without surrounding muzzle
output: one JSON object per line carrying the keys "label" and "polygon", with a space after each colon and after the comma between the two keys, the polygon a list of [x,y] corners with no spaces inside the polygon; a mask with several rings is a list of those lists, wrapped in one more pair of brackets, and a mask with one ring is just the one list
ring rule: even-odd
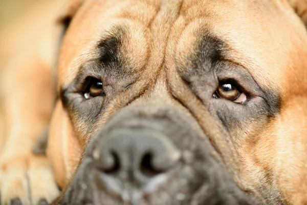
{"label": "dog's blurred black nose with both nostrils, without surrounding muzzle", "polygon": [[141,187],[168,172],[179,160],[180,152],[159,132],[118,130],[101,137],[93,156],[106,186],[113,186],[111,181],[125,181]]}

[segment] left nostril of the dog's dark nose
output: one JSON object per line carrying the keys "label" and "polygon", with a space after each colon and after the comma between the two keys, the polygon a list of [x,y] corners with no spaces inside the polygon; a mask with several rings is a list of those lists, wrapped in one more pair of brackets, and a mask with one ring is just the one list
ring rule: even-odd
{"label": "left nostril of the dog's dark nose", "polygon": [[98,163],[98,169],[106,174],[114,174],[120,170],[120,160],[118,154],[111,150],[106,155],[102,155],[100,162]]}

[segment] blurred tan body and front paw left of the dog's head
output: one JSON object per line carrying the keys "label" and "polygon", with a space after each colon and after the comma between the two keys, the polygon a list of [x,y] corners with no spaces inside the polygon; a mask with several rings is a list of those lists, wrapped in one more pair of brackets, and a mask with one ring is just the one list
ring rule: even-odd
{"label": "blurred tan body and front paw left of the dog's head", "polygon": [[32,7],[0,34],[0,192],[1,204],[51,202],[58,189],[49,160],[32,148],[53,109],[54,66],[62,1]]}

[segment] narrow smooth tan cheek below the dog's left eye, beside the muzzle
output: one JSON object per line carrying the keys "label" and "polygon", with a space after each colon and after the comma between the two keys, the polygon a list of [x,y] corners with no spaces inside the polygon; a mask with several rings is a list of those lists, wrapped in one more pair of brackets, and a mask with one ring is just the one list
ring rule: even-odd
{"label": "narrow smooth tan cheek below the dog's left eye, beside the muzzle", "polygon": [[71,121],[60,100],[57,102],[49,128],[47,156],[52,164],[55,180],[61,189],[77,168],[82,148],[75,136]]}

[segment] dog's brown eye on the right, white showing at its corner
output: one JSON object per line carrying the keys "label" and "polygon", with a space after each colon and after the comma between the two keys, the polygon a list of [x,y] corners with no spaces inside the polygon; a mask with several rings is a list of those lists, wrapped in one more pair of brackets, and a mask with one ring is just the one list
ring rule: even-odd
{"label": "dog's brown eye on the right, white showing at its corner", "polygon": [[233,84],[231,83],[220,83],[217,91],[213,94],[215,98],[224,98],[234,103],[244,103],[246,101],[246,95],[240,92]]}

